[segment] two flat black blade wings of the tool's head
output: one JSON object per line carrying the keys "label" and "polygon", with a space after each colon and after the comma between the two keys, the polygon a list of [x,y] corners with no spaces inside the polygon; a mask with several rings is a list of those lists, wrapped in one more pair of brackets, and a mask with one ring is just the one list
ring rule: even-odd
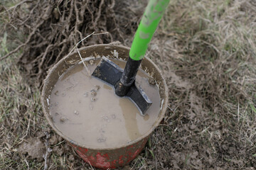
{"label": "two flat black blade wings of the tool's head", "polygon": [[[123,69],[121,69],[117,64],[114,64],[114,62],[107,59],[107,57],[102,57],[102,60],[100,60],[100,63],[92,73],[92,76],[115,86],[121,79],[122,72]],[[152,104],[145,92],[140,87],[137,87],[135,83],[132,85],[131,89],[129,89],[127,97],[129,97],[137,108],[139,108],[142,115],[146,114],[146,110]]]}

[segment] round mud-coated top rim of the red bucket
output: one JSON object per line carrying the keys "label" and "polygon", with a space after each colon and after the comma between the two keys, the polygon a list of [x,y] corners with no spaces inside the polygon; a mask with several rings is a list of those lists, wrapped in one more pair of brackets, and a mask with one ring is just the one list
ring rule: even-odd
{"label": "round mud-coated top rim of the red bucket", "polygon": [[[124,45],[117,45],[114,43],[110,43],[110,44],[100,44],[100,45],[90,45],[90,46],[86,46],[86,47],[80,47],[78,50],[81,51],[85,51],[88,50],[90,48],[93,47],[119,47],[119,48],[123,48],[124,50],[130,50],[130,47],[126,47]],[[161,102],[161,110],[159,112],[159,116],[157,117],[156,121],[154,122],[154,124],[152,125],[152,127],[142,136],[138,137],[136,140],[132,140],[130,142],[118,145],[117,147],[93,147],[90,145],[84,145],[80,142],[75,142],[74,140],[72,140],[70,137],[68,137],[67,135],[64,135],[63,132],[61,132],[53,123],[53,120],[50,118],[49,113],[46,111],[46,105],[45,105],[45,100],[47,98],[46,96],[46,86],[48,83],[48,79],[50,78],[51,73],[58,68],[58,66],[60,66],[60,64],[63,64],[63,62],[65,62],[66,59],[68,59],[68,57],[73,56],[78,54],[77,51],[71,52],[68,55],[65,55],[65,57],[63,57],[60,61],[58,61],[51,69],[49,69],[48,74],[46,76],[46,79],[43,80],[43,89],[41,91],[41,105],[43,108],[43,115],[46,117],[46,120],[48,122],[48,124],[50,125],[51,128],[53,128],[53,130],[60,135],[60,137],[63,137],[64,140],[67,140],[67,142],[70,142],[71,144],[77,146],[77,147],[82,147],[82,148],[86,148],[86,149],[92,149],[92,150],[97,150],[97,151],[102,151],[102,150],[114,150],[114,149],[121,149],[124,147],[128,147],[131,145],[136,144],[137,142],[144,140],[145,138],[149,137],[149,135],[151,135],[151,133],[159,126],[159,124],[161,123],[161,120],[164,118],[164,115],[166,113],[166,109],[168,106],[168,102],[169,102],[169,90],[166,84],[166,80],[164,79],[161,70],[159,69],[159,67],[157,67],[157,65],[149,59],[149,57],[144,57],[144,60],[147,60],[150,62],[150,64],[153,65],[154,69],[156,72],[159,72],[160,76],[161,76],[161,81],[162,81],[162,86],[164,86],[164,98],[160,98],[161,101],[164,100],[164,102]],[[161,89],[159,89],[161,90]]]}

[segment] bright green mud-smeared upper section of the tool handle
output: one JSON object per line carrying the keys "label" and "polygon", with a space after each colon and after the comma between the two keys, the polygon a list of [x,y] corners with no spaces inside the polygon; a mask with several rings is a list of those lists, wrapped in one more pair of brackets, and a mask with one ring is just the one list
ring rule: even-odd
{"label": "bright green mud-smeared upper section of the tool handle", "polygon": [[167,8],[170,0],[149,0],[146,6],[142,21],[139,23],[134,40],[132,42],[129,57],[132,60],[142,60],[154,32],[159,25],[161,17]]}

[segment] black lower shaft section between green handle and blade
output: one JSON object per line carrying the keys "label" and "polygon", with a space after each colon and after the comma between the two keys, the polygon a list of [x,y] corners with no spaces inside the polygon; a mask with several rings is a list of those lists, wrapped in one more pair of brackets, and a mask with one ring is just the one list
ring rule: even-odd
{"label": "black lower shaft section between green handle and blade", "polygon": [[126,96],[132,84],[134,84],[141,62],[142,60],[132,60],[129,57],[124,72],[122,73],[122,77],[115,85],[115,94],[117,94],[117,96]]}

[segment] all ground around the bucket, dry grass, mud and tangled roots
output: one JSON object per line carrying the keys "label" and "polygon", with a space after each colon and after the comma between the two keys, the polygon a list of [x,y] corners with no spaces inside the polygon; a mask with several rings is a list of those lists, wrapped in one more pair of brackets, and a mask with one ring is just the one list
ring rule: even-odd
{"label": "all ground around the bucket, dry grass, mud and tangled roots", "polygon": [[[93,31],[108,34],[82,45],[131,45],[145,6],[0,2],[0,169],[92,169],[43,117],[42,80]],[[146,55],[164,74],[169,108],[122,169],[256,169],[255,0],[171,0]]]}

